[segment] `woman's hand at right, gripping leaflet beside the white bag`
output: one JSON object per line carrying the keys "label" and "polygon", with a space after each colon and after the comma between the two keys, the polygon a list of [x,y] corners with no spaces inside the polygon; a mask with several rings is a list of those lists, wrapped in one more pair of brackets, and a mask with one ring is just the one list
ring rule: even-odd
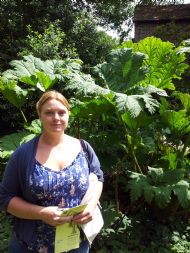
{"label": "woman's hand at right, gripping leaflet beside the white bag", "polygon": [[86,224],[92,220],[93,213],[94,208],[87,206],[83,212],[73,216],[72,222],[78,225]]}

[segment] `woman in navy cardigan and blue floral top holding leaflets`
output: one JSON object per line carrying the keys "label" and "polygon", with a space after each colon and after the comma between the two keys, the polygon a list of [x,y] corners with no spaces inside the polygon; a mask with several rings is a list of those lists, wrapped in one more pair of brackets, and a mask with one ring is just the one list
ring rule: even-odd
{"label": "woman in navy cardigan and blue floral top holding leaflets", "polygon": [[[45,92],[36,104],[42,133],[21,145],[11,156],[0,184],[0,207],[15,217],[9,253],[53,253],[55,227],[92,220],[102,192],[103,173],[96,154],[84,141],[65,134],[70,107],[57,91]],[[89,173],[98,187],[85,210],[74,217],[61,216],[60,208],[80,205],[89,186]],[[87,253],[89,243],[81,232],[80,247],[69,252]]]}

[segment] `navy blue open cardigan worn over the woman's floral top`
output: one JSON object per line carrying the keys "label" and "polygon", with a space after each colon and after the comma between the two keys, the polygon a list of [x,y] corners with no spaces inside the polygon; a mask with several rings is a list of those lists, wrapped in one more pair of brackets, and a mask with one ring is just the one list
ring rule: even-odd
{"label": "navy blue open cardigan worn over the woman's floral top", "polygon": [[[37,136],[29,142],[22,144],[9,159],[2,182],[0,183],[0,209],[6,210],[9,201],[15,196],[19,196],[35,204],[35,200],[29,189],[29,176],[35,167],[35,156],[39,137]],[[88,142],[82,141],[83,148],[85,146],[85,151],[88,154],[90,172],[95,173],[99,181],[103,182],[103,172],[94,150]],[[18,238],[28,244],[35,240],[35,225],[35,220],[15,217],[13,229]]]}

